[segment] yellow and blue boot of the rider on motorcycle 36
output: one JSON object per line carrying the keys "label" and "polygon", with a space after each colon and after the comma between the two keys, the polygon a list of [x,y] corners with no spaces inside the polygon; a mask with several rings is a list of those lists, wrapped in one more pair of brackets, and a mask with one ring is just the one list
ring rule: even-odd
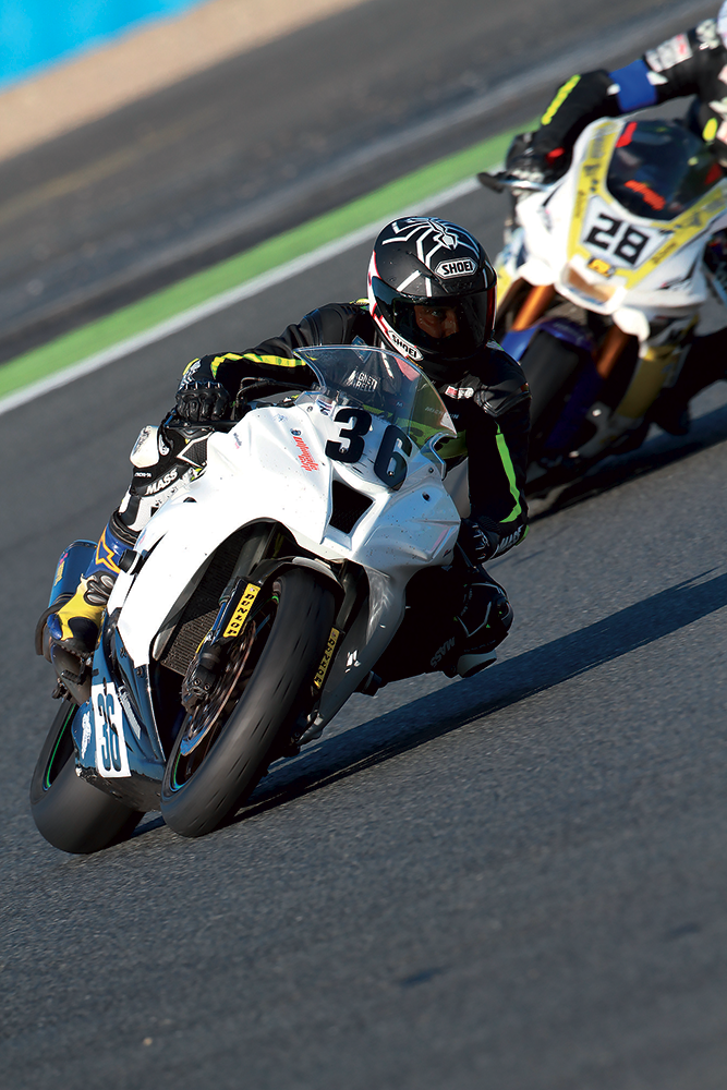
{"label": "yellow and blue boot of the rider on motorcycle 36", "polygon": [[[119,536],[119,534],[123,536]],[[93,655],[101,629],[101,619],[119,574],[119,558],[132,542],[129,530],[114,512],[96,546],[94,559],[75,593],[46,616],[51,645],[80,659]]]}

